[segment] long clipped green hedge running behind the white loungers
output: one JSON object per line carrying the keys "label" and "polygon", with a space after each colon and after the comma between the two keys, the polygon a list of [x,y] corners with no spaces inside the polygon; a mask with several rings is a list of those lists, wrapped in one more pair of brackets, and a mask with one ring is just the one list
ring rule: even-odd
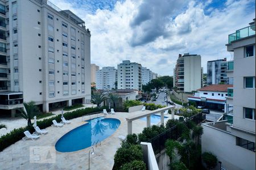
{"label": "long clipped green hedge running behind the white loungers", "polygon": [[[64,117],[67,120],[71,120],[72,118],[81,117],[81,116],[84,116],[89,113],[101,112],[102,109],[104,109],[104,108],[105,107],[78,109],[73,112],[64,113]],[[45,129],[52,125],[53,120],[60,122],[61,121],[60,117],[61,117],[61,114],[59,114],[55,117],[47,118],[42,121],[37,121],[36,125],[38,125],[40,129]],[[15,142],[18,142],[20,139],[22,139],[25,136],[23,132],[26,130],[30,131],[30,133],[34,133],[34,131],[35,131],[35,129],[32,126],[30,126],[30,127],[26,126],[24,128],[14,129],[14,130],[10,131],[10,133],[3,135],[0,138],[0,151],[3,151],[6,147],[9,147],[10,145],[13,145]]]}

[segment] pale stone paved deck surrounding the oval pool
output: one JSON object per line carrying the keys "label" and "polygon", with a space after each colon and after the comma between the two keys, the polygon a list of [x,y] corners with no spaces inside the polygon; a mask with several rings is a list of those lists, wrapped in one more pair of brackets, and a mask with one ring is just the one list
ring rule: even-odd
{"label": "pale stone paved deck surrounding the oval pool", "polygon": [[[115,151],[121,146],[119,135],[127,135],[127,121],[126,117],[133,116],[138,113],[116,112],[115,114],[108,114],[108,118],[118,118],[121,121],[119,128],[104,141],[101,145],[94,146],[94,155],[90,155],[90,169],[112,169],[114,165]],[[166,122],[171,118],[171,114],[167,114],[169,118],[164,119]],[[175,116],[177,118],[177,116]],[[82,118],[74,118],[71,124],[64,125],[62,128],[48,127],[48,134],[41,135],[35,141],[20,140],[15,144],[7,147],[0,152],[0,169],[88,169],[88,153],[91,149],[85,148],[75,152],[58,152],[56,151],[55,163],[30,163],[34,157],[30,157],[30,147],[41,146],[55,146],[57,140],[68,131],[77,128],[78,126],[86,124]],[[133,133],[141,133],[147,122],[143,120],[133,121]],[[54,153],[55,150],[51,153]],[[47,155],[48,156],[48,155]],[[53,156],[51,157],[53,158]],[[53,159],[54,160],[54,159]]]}

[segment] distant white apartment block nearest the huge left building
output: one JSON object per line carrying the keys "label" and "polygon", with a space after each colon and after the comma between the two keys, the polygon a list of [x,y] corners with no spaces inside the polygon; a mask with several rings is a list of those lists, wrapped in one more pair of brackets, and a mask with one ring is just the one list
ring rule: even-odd
{"label": "distant white apartment block nearest the huge left building", "polygon": [[115,89],[117,82],[117,69],[115,67],[102,67],[96,71],[96,88],[99,90]]}

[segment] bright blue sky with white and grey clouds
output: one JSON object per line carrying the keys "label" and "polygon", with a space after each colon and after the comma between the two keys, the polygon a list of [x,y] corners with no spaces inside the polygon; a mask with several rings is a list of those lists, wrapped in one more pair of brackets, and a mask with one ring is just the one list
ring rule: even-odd
{"label": "bright blue sky with white and grey clouds", "polygon": [[179,54],[207,61],[227,58],[228,35],[255,18],[254,0],[50,0],[85,21],[91,33],[91,63],[117,67],[141,63],[159,75],[173,75]]}

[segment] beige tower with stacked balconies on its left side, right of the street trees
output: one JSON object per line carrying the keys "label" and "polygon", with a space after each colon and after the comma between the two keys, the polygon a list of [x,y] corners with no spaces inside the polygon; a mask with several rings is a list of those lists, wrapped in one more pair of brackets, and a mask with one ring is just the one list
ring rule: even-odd
{"label": "beige tower with stacked balconies on its left side, right of the street trees", "polygon": [[179,54],[174,69],[174,87],[178,91],[191,92],[203,86],[203,68],[201,56],[197,54]]}

